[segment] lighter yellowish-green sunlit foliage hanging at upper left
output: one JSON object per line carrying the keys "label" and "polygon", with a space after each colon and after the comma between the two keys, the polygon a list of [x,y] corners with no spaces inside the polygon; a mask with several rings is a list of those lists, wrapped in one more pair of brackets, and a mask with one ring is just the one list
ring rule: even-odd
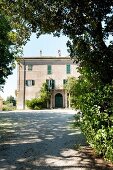
{"label": "lighter yellowish-green sunlit foliage hanging at upper left", "polygon": [[[7,18],[7,21],[11,27],[11,31],[8,33],[9,39],[15,45],[13,50],[20,52],[22,46],[26,44],[31,35],[31,29],[28,22],[25,21],[18,11],[18,4],[15,1],[0,1],[1,13]],[[20,2],[18,2],[20,3]]]}

